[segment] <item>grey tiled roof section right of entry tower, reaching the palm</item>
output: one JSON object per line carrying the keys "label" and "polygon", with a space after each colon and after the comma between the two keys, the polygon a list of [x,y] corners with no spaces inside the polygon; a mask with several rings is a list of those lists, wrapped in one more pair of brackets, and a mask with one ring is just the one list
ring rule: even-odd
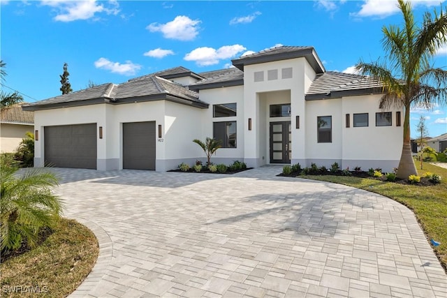
{"label": "grey tiled roof section right of entry tower, reaching the palm", "polygon": [[306,100],[381,93],[383,93],[383,85],[372,78],[328,71],[316,75],[307,90]]}

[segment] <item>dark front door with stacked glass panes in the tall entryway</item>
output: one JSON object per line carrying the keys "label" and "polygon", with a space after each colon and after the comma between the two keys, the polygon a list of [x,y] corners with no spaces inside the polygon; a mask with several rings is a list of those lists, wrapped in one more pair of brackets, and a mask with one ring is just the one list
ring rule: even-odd
{"label": "dark front door with stacked glass panes in the tall entryway", "polygon": [[270,163],[291,163],[291,121],[270,122]]}

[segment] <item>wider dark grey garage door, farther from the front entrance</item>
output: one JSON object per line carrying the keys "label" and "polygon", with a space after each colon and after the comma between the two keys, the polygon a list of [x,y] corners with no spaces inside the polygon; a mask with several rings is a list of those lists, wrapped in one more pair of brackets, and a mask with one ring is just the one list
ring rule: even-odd
{"label": "wider dark grey garage door, farther from the front entrance", "polygon": [[45,164],[96,169],[96,124],[45,126]]}

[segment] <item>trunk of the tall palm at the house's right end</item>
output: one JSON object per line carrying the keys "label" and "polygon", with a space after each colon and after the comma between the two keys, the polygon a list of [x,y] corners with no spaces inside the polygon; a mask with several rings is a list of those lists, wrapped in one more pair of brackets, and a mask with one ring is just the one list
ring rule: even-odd
{"label": "trunk of the tall palm at the house's right end", "polygon": [[396,176],[401,179],[408,179],[410,175],[417,175],[416,165],[414,165],[411,155],[410,137],[410,105],[405,107],[404,117],[404,144],[402,145],[402,155],[400,156],[399,167]]}

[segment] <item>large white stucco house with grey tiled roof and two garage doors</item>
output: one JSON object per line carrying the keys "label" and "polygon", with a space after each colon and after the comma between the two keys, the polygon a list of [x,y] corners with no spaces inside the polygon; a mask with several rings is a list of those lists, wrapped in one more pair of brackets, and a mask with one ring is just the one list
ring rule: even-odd
{"label": "large white stucco house with grey tiled roof and two garage doors", "polygon": [[34,165],[166,171],[205,161],[193,139],[214,137],[214,163],[339,163],[397,167],[403,110],[381,110],[367,77],[326,71],[314,47],[274,47],[195,73],[183,67],[23,107],[34,111]]}

